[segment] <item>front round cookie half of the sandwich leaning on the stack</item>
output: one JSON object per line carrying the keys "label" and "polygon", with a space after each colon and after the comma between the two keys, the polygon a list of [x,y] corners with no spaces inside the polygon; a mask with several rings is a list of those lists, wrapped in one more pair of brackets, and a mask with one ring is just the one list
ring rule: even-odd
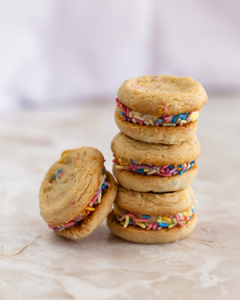
{"label": "front round cookie half of the sandwich leaning on the stack", "polygon": [[98,149],[64,151],[46,173],[39,193],[41,215],[50,225],[77,217],[98,190],[104,158]]}

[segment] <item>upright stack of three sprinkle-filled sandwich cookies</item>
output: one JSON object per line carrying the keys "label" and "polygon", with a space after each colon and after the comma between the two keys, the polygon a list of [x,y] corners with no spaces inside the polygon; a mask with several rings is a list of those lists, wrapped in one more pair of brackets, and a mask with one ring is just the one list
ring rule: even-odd
{"label": "upright stack of three sprinkle-filled sandwich cookies", "polygon": [[107,224],[138,243],[167,243],[196,226],[194,194],[200,145],[197,117],[207,95],[190,77],[143,76],[119,88],[112,141],[113,173],[119,182]]}

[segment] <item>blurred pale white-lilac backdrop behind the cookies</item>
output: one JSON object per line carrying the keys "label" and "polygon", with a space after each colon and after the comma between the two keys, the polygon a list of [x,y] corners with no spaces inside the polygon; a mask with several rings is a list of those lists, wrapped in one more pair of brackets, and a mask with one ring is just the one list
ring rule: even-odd
{"label": "blurred pale white-lilac backdrop behind the cookies", "polygon": [[110,100],[145,74],[239,91],[240,1],[1,1],[0,110]]}

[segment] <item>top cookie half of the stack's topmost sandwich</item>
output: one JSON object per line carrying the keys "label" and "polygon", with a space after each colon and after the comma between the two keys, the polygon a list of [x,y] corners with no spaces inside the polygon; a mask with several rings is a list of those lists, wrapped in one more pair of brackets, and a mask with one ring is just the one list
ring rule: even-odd
{"label": "top cookie half of the stack's topmost sandwich", "polygon": [[207,94],[191,77],[155,75],[126,80],[118,90],[118,99],[139,112],[176,115],[200,110]]}

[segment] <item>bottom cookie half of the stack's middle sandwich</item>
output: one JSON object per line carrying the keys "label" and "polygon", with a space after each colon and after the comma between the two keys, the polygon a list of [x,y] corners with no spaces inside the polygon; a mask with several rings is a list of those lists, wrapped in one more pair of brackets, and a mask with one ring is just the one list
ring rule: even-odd
{"label": "bottom cookie half of the stack's middle sandwich", "polygon": [[197,163],[195,162],[194,166],[182,175],[161,177],[119,170],[116,169],[116,164],[113,164],[113,174],[117,181],[126,189],[136,190],[137,192],[165,193],[181,190],[190,185],[196,176],[197,168]]}

